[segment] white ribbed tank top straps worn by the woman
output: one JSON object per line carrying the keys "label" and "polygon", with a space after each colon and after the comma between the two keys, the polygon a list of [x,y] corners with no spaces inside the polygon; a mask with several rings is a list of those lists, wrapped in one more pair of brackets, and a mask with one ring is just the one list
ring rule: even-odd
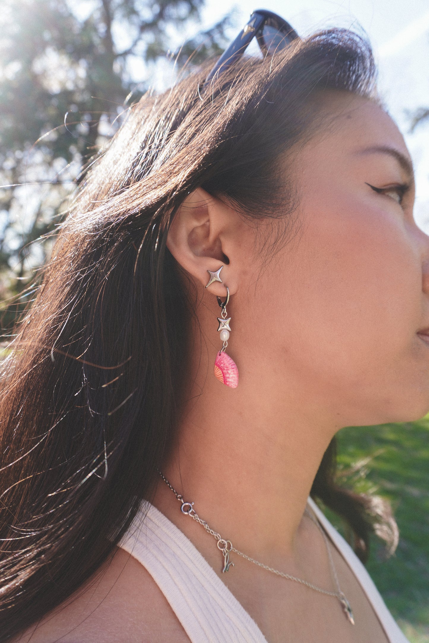
{"label": "white ribbed tank top straps worn by the woman", "polygon": [[[390,643],[409,643],[352,548],[311,498],[320,525],[351,568]],[[142,507],[120,547],[143,565],[192,643],[267,643],[255,621],[191,541],[156,507]]]}

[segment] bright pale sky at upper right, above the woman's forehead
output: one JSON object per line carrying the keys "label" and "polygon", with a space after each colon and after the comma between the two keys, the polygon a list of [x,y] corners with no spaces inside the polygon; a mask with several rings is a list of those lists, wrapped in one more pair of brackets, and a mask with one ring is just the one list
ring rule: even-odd
{"label": "bright pale sky at upper right, above the woman's forehead", "polygon": [[301,35],[327,26],[367,32],[378,62],[381,94],[414,160],[415,219],[429,232],[429,120],[410,134],[406,116],[407,111],[429,107],[428,0],[262,0],[260,5],[255,0],[207,0],[205,26],[217,22],[233,6],[239,26],[253,9],[264,8],[284,17]]}

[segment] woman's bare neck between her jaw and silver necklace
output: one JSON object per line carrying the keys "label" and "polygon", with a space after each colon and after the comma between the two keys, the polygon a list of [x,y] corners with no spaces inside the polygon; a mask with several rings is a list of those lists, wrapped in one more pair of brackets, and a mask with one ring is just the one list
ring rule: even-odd
{"label": "woman's bare neck between her jaw and silver necklace", "polygon": [[[260,382],[257,390],[243,381],[232,391],[209,375],[190,400],[163,474],[234,547],[271,561],[293,556],[333,424],[297,392],[276,399]],[[155,504],[173,521],[179,515],[161,481]]]}

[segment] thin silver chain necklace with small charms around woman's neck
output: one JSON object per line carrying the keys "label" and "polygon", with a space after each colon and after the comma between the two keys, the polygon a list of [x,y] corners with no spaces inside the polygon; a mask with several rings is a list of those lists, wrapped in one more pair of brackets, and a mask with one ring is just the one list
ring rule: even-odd
{"label": "thin silver chain necklace with small charms around woman's neck", "polygon": [[352,625],[354,625],[354,617],[353,617],[353,612],[351,605],[347,598],[345,597],[344,593],[342,592],[340,588],[340,582],[338,581],[338,576],[336,574],[336,569],[333,561],[333,557],[331,554],[331,548],[329,547],[329,543],[327,541],[327,537],[325,535],[324,530],[322,527],[320,527],[318,520],[316,516],[313,516],[308,509],[306,509],[306,514],[309,516],[309,518],[315,523],[316,527],[318,527],[318,530],[323,536],[328,558],[329,558],[329,567],[331,568],[331,577],[334,580],[334,583],[336,585],[336,592],[331,592],[331,590],[324,590],[321,587],[318,587],[314,585],[313,583],[309,583],[308,581],[304,581],[302,578],[298,578],[297,576],[293,576],[291,574],[286,574],[285,572],[280,572],[277,569],[273,569],[272,567],[269,567],[268,565],[264,565],[264,563],[260,563],[259,561],[255,560],[254,558],[251,558],[250,556],[247,556],[246,554],[243,554],[239,549],[236,549],[233,547],[232,542],[230,540],[225,540],[224,538],[221,537],[221,534],[218,534],[214,529],[210,529],[208,524],[206,523],[205,520],[199,517],[199,515],[196,513],[194,509],[194,503],[193,502],[185,502],[183,500],[183,496],[181,494],[177,493],[176,489],[172,487],[170,482],[163,476],[161,471],[158,471],[160,474],[161,478],[167,484],[167,486],[171,489],[171,491],[174,493],[176,496],[177,500],[181,503],[181,512],[187,516],[190,516],[193,520],[195,520],[197,523],[200,525],[203,525],[204,529],[210,536],[213,536],[215,540],[217,541],[217,548],[219,551],[222,552],[223,555],[223,569],[222,572],[228,572],[230,566],[234,566],[234,563],[230,562],[230,552],[234,552],[234,554],[237,554],[238,556],[241,556],[242,558],[246,559],[246,561],[249,561],[250,563],[253,563],[254,565],[258,565],[259,567],[262,567],[262,569],[266,569],[267,572],[271,572],[271,574],[276,574],[277,576],[281,576],[282,578],[288,579],[288,581],[295,581],[295,583],[300,583],[302,585],[306,585],[306,587],[309,587],[311,590],[315,590],[315,592],[320,592],[321,594],[325,594],[327,596],[334,596],[338,601],[340,601],[340,604],[343,608],[343,611],[345,615],[347,616],[347,619],[349,619],[349,622],[351,622]]}

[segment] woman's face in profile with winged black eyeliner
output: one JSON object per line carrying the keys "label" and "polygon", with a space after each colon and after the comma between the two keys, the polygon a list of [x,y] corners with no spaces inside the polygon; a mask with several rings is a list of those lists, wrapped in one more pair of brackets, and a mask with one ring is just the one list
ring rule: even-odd
{"label": "woman's face in profile with winged black eyeliner", "polygon": [[[338,426],[429,410],[429,237],[410,156],[375,103],[327,95],[334,118],[293,158],[301,226],[257,283],[266,368]],[[261,299],[262,297],[262,299]],[[252,318],[253,332],[255,316]]]}

